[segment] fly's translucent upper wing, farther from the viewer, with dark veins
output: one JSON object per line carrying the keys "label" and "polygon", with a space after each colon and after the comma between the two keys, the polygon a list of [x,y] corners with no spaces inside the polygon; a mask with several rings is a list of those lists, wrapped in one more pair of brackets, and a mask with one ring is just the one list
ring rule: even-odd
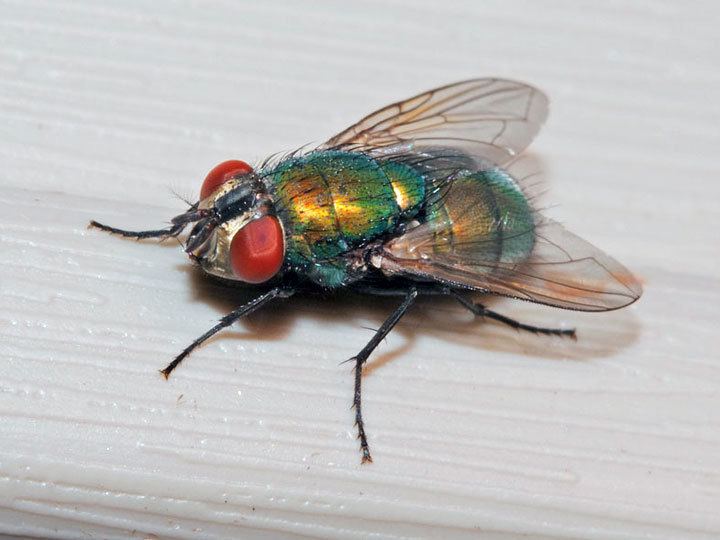
{"label": "fly's translucent upper wing, farther from the viewer, with dark veins", "polygon": [[452,147],[503,165],[522,152],[545,121],[548,99],[504,79],[472,79],[388,105],[331,138],[323,148],[370,153]]}

